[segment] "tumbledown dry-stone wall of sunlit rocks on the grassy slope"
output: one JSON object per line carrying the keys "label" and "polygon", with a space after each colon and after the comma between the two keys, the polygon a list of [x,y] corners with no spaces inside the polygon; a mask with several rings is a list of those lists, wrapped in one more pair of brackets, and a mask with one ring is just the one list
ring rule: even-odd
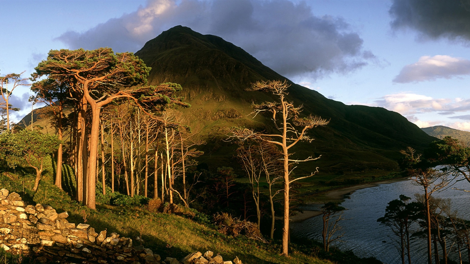
{"label": "tumbledown dry-stone wall of sunlit rocks on the grassy slope", "polygon": [[86,224],[69,223],[67,212],[57,213],[48,205],[26,205],[19,194],[0,190],[0,248],[13,254],[30,255],[41,263],[131,263],[131,264],[242,264],[223,261],[207,251],[192,253],[178,261],[164,260],[131,238],[117,233],[95,232]]}

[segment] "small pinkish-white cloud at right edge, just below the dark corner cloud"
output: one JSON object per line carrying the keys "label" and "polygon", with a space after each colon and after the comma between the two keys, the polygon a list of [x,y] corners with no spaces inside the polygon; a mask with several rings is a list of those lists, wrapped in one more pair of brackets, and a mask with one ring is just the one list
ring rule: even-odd
{"label": "small pinkish-white cloud at right edge, just below the dark corner cloud", "polygon": [[393,82],[415,83],[462,75],[470,75],[469,60],[447,55],[422,56],[418,62],[403,67]]}

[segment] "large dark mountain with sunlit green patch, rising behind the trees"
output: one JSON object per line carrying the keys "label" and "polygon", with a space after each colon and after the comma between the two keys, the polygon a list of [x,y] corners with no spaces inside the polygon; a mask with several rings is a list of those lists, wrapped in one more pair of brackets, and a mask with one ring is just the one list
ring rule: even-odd
{"label": "large dark mountain with sunlit green patch, rising behind the trees", "polygon": [[[227,139],[225,127],[245,126],[271,130],[267,116],[248,116],[251,102],[273,100],[268,93],[247,92],[257,80],[285,77],[263,65],[242,48],[213,35],[202,35],[176,26],[149,40],[135,53],[149,67],[149,84],[175,82],[192,106],[180,111],[194,132],[208,141],[203,162],[213,166],[233,163],[235,144]],[[289,81],[289,80],[288,80]],[[396,112],[378,107],[345,105],[289,81],[289,99],[303,105],[303,115],[327,118],[325,127],[309,132],[316,140],[296,146],[297,155],[322,155],[314,164],[323,171],[365,167],[396,168],[399,150],[407,146],[425,148],[435,138]]]}

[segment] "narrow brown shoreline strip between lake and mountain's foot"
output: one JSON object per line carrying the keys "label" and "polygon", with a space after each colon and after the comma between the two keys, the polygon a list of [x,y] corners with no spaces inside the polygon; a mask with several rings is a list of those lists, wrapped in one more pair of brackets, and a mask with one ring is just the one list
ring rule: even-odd
{"label": "narrow brown shoreline strip between lake and mountain's foot", "polygon": [[[366,183],[366,184],[359,184],[359,185],[353,185],[353,186],[347,186],[335,190],[330,190],[330,191],[325,191],[323,192],[325,196],[327,197],[325,200],[317,203],[310,203],[310,204],[324,204],[326,202],[329,202],[329,200],[343,200],[344,196],[346,194],[352,194],[353,192],[369,187],[376,187],[379,186],[379,184],[389,184],[389,183],[394,183],[394,182],[399,182],[399,181],[404,181],[407,180],[408,178],[400,178],[400,179],[389,179],[389,180],[384,180],[384,181],[377,181],[374,183]],[[303,222],[309,218],[316,217],[321,215],[321,211],[310,211],[310,210],[304,210],[303,213],[298,213],[295,216],[290,217],[290,222]]]}

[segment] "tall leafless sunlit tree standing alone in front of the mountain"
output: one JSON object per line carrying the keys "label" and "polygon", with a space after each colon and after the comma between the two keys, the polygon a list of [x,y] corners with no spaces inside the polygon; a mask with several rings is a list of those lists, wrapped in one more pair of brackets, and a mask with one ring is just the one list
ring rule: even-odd
{"label": "tall leafless sunlit tree standing alone in front of the mountain", "polygon": [[287,100],[286,96],[289,94],[287,81],[258,81],[254,83],[250,91],[267,91],[273,93],[277,97],[275,102],[263,102],[261,104],[253,104],[252,114],[256,116],[258,113],[268,112],[272,115],[274,127],[279,131],[278,133],[266,134],[261,132],[254,132],[251,129],[235,128],[232,129],[233,135],[231,137],[238,140],[256,139],[265,141],[271,144],[278,145],[282,148],[283,159],[283,181],[284,181],[284,226],[282,229],[282,255],[289,255],[289,190],[290,184],[299,179],[305,179],[313,176],[316,172],[312,172],[308,176],[290,179],[289,165],[292,163],[313,161],[320,157],[307,157],[306,159],[290,159],[289,150],[296,145],[300,140],[312,141],[313,139],[306,135],[306,131],[316,126],[323,126],[329,123],[326,119],[319,116],[300,117],[302,107],[295,107],[293,102]]}

